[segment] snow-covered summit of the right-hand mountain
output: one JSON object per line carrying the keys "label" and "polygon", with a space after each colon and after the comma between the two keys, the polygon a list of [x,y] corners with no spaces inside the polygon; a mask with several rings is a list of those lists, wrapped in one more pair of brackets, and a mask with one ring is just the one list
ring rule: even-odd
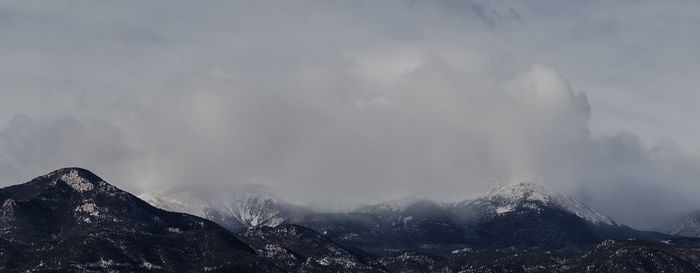
{"label": "snow-covered summit of the right-hand mountain", "polygon": [[543,185],[520,182],[499,186],[487,191],[471,204],[491,205],[497,214],[508,213],[519,208],[539,209],[552,206],[564,209],[595,224],[616,225],[600,212],[567,195],[554,193]]}

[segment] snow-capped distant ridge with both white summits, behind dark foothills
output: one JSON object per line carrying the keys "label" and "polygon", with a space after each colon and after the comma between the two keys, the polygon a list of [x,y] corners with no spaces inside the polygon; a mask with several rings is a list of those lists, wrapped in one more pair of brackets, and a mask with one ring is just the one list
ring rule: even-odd
{"label": "snow-capped distant ridge with both white summits, behind dark foothills", "polygon": [[404,198],[347,213],[289,205],[260,188],[180,189],[142,197],[157,207],[202,216],[236,232],[296,224],[377,255],[406,250],[445,254],[465,248],[577,249],[608,238],[667,237],[619,225],[580,201],[533,183],[496,187],[459,202]]}

